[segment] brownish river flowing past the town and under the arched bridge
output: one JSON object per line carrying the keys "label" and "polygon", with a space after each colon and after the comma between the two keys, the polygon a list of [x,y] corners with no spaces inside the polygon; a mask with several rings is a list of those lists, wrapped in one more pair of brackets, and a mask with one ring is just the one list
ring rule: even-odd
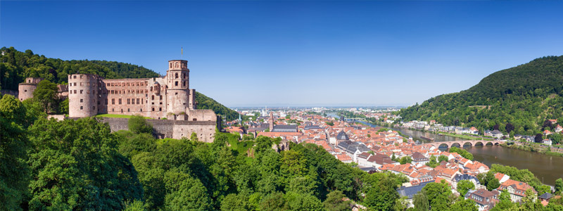
{"label": "brownish river flowing past the town and under the arched bridge", "polygon": [[[338,115],[331,115],[338,117]],[[370,127],[377,127],[375,124],[361,122]],[[403,133],[405,136],[412,136],[412,139],[429,142],[420,139],[420,136],[434,138],[434,141],[459,141],[465,140],[453,136],[439,136],[428,132],[420,132],[405,128],[391,128]],[[521,151],[513,148],[505,148],[502,146],[473,146],[464,147],[465,150],[472,153],[474,160],[483,162],[491,167],[493,163],[500,165],[510,165],[517,167],[519,170],[527,169],[532,172],[540,181],[550,186],[555,185],[555,180],[563,178],[563,157],[544,155],[529,151]],[[443,150],[443,149],[442,149]]]}

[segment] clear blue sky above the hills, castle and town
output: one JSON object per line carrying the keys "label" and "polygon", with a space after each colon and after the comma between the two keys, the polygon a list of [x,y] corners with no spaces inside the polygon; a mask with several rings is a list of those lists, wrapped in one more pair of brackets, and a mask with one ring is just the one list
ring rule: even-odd
{"label": "clear blue sky above the hills, castle and town", "polygon": [[0,1],[0,46],[116,60],[226,106],[408,106],[563,54],[563,1]]}

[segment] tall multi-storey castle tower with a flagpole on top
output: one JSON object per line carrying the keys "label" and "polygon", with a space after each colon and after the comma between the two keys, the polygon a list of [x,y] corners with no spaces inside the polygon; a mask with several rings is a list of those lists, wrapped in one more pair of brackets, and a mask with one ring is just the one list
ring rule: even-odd
{"label": "tall multi-storey castle tower with a flagpole on top", "polygon": [[189,69],[187,60],[169,60],[166,71],[166,112],[186,114],[189,108]]}

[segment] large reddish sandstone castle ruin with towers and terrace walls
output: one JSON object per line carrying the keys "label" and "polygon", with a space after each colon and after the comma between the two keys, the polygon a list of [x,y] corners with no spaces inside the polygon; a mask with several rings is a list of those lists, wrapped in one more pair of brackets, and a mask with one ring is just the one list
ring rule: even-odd
{"label": "large reddish sandstone castle ruin with towers and terrace walls", "polygon": [[[19,85],[21,101],[31,98],[41,78],[27,78]],[[103,79],[98,75],[68,75],[68,87],[58,87],[59,96],[68,96],[69,117],[98,114],[142,115],[159,138],[181,139],[192,132],[200,141],[213,141],[220,120],[213,110],[198,110],[196,90],[189,89],[187,60],[168,61],[164,77],[144,79]],[[127,129],[127,119],[103,118],[113,131]]]}

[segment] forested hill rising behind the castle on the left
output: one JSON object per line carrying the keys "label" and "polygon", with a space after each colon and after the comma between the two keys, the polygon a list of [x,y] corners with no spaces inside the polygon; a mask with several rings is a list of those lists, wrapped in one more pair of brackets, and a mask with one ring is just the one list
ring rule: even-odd
{"label": "forested hill rising behind the castle on the left", "polygon": [[[57,84],[68,82],[68,74],[89,73],[107,79],[158,77],[158,73],[139,65],[106,60],[61,60],[34,54],[31,50],[18,51],[13,47],[0,49],[0,87],[18,90],[26,77],[42,77]],[[238,113],[201,93],[196,94],[198,108],[212,109],[228,121]]]}

